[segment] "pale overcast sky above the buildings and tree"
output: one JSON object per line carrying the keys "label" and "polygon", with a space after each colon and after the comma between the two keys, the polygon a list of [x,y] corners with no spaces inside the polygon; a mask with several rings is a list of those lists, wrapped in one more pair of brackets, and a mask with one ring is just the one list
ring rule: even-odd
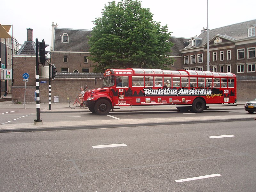
{"label": "pale overcast sky above the buildings and tree", "polygon": [[[44,2],[44,3],[42,3]],[[13,25],[13,36],[20,44],[27,41],[27,28],[33,29],[33,41],[51,44],[52,22],[59,28],[92,29],[109,0],[1,0],[2,25]],[[116,2],[119,2],[117,0]],[[207,27],[207,0],[142,0],[153,20],[168,25],[171,36],[199,36]],[[256,19],[256,0],[208,0],[209,28],[219,28]],[[11,29],[12,30],[12,29]],[[11,34],[10,30],[10,34]],[[50,47],[50,46],[49,46]]]}

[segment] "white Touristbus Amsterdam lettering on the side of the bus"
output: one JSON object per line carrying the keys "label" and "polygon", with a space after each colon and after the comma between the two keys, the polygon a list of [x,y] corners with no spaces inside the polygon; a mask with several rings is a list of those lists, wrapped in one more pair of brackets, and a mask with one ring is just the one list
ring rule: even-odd
{"label": "white Touristbus Amsterdam lettering on the side of the bus", "polygon": [[205,90],[203,89],[184,89],[181,88],[179,90],[177,89],[170,89],[170,88],[165,88],[165,89],[151,89],[151,88],[144,88],[144,96],[146,95],[210,95],[212,94],[212,90]]}

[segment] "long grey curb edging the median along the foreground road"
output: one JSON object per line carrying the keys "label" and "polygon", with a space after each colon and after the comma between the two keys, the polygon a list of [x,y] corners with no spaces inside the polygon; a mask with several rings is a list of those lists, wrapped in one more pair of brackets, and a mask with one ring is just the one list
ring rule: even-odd
{"label": "long grey curb edging the median along the foreground road", "polygon": [[125,127],[143,127],[157,125],[178,125],[178,124],[201,124],[216,122],[232,122],[232,121],[255,121],[255,117],[234,118],[234,119],[215,119],[215,120],[196,120],[196,121],[179,121],[179,122],[163,122],[163,123],[143,123],[143,124],[101,124],[101,125],[83,125],[83,126],[66,126],[66,127],[43,127],[43,128],[20,128],[20,129],[3,129],[0,133],[9,132],[41,132],[41,131],[65,131],[65,130],[82,130],[82,129],[100,129],[103,128],[125,128]]}

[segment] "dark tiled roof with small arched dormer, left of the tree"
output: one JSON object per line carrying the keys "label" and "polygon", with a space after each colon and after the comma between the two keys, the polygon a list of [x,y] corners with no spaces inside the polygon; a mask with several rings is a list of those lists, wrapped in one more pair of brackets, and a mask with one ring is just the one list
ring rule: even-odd
{"label": "dark tiled roof with small arched dormer, left of the tree", "polygon": [[[63,33],[68,34],[68,43],[61,42]],[[91,33],[92,30],[54,28],[53,51],[89,52],[90,45],[88,41]]]}

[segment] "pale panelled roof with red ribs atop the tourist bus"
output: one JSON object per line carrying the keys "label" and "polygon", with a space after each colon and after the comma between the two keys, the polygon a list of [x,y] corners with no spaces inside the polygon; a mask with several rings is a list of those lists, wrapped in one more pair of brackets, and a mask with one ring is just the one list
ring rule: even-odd
{"label": "pale panelled roof with red ribs atop the tourist bus", "polygon": [[141,68],[126,68],[126,69],[107,69],[105,75],[177,75],[177,76],[217,76],[217,77],[236,77],[233,73],[217,73],[211,71],[194,71],[194,70],[162,70],[162,69],[141,69]]}

